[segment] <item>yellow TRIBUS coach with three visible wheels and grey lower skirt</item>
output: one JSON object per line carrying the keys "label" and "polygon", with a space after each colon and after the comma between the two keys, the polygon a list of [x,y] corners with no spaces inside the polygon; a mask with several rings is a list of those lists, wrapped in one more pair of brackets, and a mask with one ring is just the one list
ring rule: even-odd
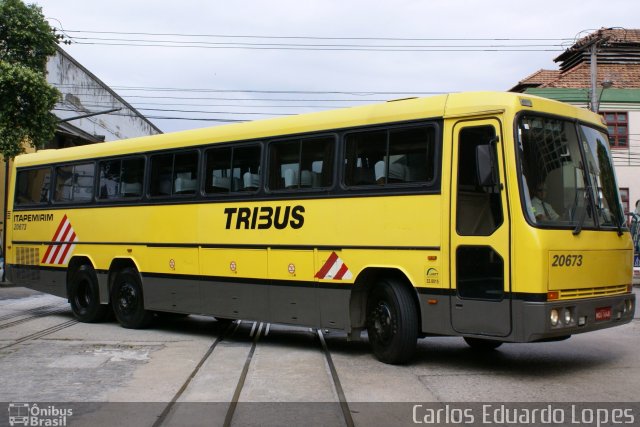
{"label": "yellow TRIBUS coach with three visible wheels and grey lower skirt", "polygon": [[456,93],[16,158],[7,274],[84,322],[155,313],[480,349],[631,321],[633,247],[606,127]]}

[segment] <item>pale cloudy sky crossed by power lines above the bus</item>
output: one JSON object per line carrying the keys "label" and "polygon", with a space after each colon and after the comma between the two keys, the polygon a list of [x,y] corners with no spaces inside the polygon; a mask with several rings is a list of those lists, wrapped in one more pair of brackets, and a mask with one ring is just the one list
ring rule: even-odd
{"label": "pale cloudy sky crossed by power lines above the bus", "polygon": [[557,69],[553,59],[577,38],[640,27],[632,0],[26,2],[65,35],[63,49],[164,132],[508,90]]}

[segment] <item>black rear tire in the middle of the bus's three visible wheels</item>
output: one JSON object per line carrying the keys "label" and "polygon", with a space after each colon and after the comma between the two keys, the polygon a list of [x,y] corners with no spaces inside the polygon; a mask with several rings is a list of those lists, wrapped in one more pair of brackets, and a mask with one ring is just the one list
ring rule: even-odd
{"label": "black rear tire in the middle of the bus's three visible wheels", "polygon": [[111,287],[111,306],[118,323],[127,329],[143,329],[151,324],[153,312],[145,310],[138,271],[124,268],[116,273]]}

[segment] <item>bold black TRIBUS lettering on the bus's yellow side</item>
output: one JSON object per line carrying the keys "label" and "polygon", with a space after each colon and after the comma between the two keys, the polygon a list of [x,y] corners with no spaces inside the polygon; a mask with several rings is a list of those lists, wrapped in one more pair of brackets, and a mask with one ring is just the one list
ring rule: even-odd
{"label": "bold black TRIBUS lettering on the bus's yellow side", "polygon": [[[275,227],[283,230],[287,227],[299,229],[304,225],[304,206],[263,206],[261,208],[225,208],[226,229],[232,226],[236,230],[267,230]],[[235,222],[234,222],[235,216]]]}

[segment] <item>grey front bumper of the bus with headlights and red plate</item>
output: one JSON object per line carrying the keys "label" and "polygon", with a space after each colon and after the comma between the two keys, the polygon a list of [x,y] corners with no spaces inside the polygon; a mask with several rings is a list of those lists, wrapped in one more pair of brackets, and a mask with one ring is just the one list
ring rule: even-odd
{"label": "grey front bumper of the bus with headlights and red plate", "polygon": [[514,338],[517,342],[553,340],[623,325],[633,319],[635,306],[633,293],[552,302],[514,301]]}

